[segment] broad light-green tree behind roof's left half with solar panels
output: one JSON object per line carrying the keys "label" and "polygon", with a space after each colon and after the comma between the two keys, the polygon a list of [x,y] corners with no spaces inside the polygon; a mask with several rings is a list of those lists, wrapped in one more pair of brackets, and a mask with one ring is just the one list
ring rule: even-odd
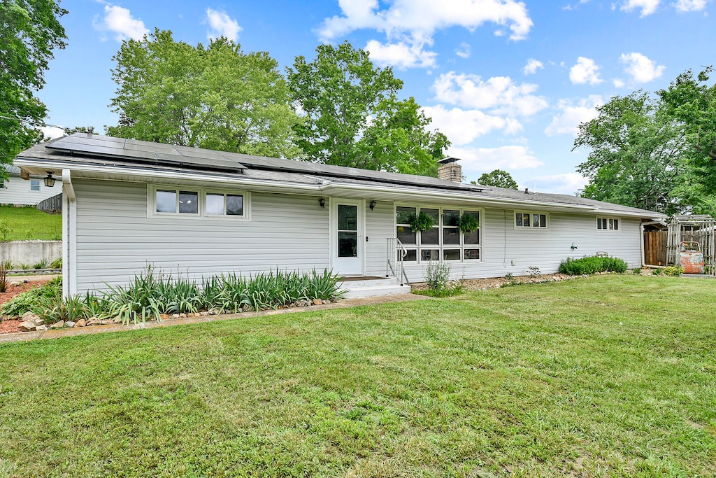
{"label": "broad light-green tree behind roof's left half with solar panels", "polygon": [[117,82],[112,111],[120,138],[214,150],[296,158],[293,127],[300,123],[276,60],[243,53],[226,38],[208,47],[175,42],[155,29],[125,40],[112,58]]}

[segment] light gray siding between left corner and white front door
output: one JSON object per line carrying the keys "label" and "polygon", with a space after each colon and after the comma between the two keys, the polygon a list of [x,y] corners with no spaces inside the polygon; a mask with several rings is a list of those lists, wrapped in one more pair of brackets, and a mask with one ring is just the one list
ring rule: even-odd
{"label": "light gray siding between left corner and white front door", "polygon": [[147,185],[73,181],[77,291],[126,284],[147,264],[208,277],[329,268],[329,209],[311,196],[251,193],[251,221],[147,217]]}

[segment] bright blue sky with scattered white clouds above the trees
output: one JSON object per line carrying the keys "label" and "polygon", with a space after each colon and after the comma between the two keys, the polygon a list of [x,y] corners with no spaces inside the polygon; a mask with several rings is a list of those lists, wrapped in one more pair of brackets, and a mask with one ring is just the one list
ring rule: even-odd
{"label": "bright blue sky with scattered white clouds above the trees", "polygon": [[349,40],[392,66],[448,135],[463,173],[505,169],[521,187],[575,193],[576,127],[614,95],[667,87],[714,64],[712,0],[64,0],[67,49],[38,94],[47,123],[114,125],[110,69],[122,39],[170,29],[196,44],[223,34],[281,65]]}

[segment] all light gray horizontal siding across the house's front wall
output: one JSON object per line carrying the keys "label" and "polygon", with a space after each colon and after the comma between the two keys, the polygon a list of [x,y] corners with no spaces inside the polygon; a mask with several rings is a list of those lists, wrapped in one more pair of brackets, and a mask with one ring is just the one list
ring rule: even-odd
{"label": "all light gray horizontal siding across the house's front wall", "polygon": [[[222,272],[329,269],[330,208],[318,196],[251,192],[251,220],[147,214],[147,184],[73,180],[77,193],[77,292],[126,284],[153,264],[198,279]],[[227,192],[231,190],[227,189]],[[425,207],[437,207],[425,204]],[[450,209],[457,209],[450,206]],[[365,274],[384,276],[386,240],[395,236],[395,204],[365,207]],[[609,216],[607,216],[609,217]],[[482,261],[450,261],[453,277],[556,272],[567,257],[598,251],[641,265],[639,219],[619,219],[619,231],[598,231],[594,214],[550,213],[548,229],[515,229],[513,209],[481,209]],[[365,240],[365,239],[363,239]],[[571,249],[574,244],[577,249]],[[513,265],[514,264],[514,265]],[[425,280],[425,263],[405,263],[411,282]]]}

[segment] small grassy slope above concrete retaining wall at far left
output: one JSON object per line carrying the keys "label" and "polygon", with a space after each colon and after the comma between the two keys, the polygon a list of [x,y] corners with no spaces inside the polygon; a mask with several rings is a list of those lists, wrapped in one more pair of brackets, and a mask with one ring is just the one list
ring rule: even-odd
{"label": "small grassy slope above concrete retaining wall at far left", "polygon": [[47,214],[34,206],[0,206],[0,220],[9,226],[8,241],[62,240],[61,214]]}

